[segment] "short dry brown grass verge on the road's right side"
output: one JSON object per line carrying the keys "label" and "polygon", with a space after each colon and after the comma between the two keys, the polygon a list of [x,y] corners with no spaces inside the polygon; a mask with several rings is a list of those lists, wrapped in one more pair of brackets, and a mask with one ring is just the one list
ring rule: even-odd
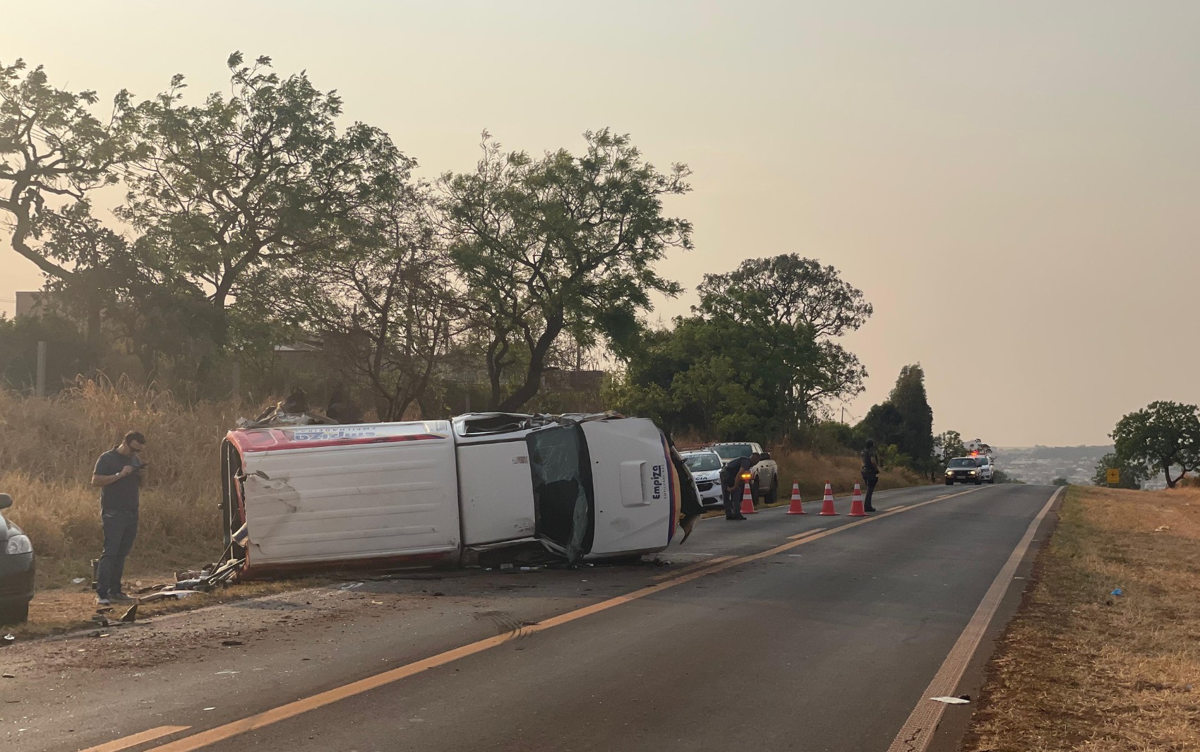
{"label": "short dry brown grass verge on the road's right side", "polygon": [[1068,491],[962,748],[1200,750],[1200,489]]}

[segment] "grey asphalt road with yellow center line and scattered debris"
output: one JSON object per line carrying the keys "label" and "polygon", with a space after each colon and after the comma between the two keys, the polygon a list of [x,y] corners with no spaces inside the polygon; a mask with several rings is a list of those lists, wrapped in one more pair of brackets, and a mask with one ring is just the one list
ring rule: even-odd
{"label": "grey asphalt road with yellow center line and scattered debris", "polygon": [[[866,521],[817,503],[706,520],[670,567],[365,583],[160,620],[107,652],[86,638],[11,647],[0,744],[882,752],[1052,491],[904,489],[876,500],[904,511]],[[245,644],[220,646],[234,628]],[[162,735],[131,738],[148,729]]]}

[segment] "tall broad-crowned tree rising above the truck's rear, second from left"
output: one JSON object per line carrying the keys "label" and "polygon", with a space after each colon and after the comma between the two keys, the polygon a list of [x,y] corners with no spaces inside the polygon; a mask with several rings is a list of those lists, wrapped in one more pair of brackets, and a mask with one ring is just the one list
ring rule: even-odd
{"label": "tall broad-crowned tree rising above the truck's rear, second from left", "polygon": [[[283,271],[344,252],[348,223],[413,165],[374,127],[338,132],[342,101],[305,73],[281,78],[270,58],[229,56],[229,97],[184,103],[184,77],[137,107],[146,154],[126,175],[118,215],[136,227],[137,257],[211,308],[218,351],[264,321],[301,322],[307,291]],[[230,304],[236,300],[235,314]]]}

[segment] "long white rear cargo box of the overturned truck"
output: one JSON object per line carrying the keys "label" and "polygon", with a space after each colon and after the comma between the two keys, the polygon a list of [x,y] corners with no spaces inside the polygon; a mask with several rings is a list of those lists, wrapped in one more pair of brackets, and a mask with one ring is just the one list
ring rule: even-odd
{"label": "long white rear cargo box of the overturned truck", "polygon": [[449,423],[269,431],[240,442],[248,566],[458,549]]}

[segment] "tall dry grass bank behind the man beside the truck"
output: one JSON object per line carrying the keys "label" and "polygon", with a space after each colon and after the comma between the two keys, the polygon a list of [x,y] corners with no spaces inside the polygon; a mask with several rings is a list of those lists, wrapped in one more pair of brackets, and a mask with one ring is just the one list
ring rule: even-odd
{"label": "tall dry grass bank behind the man beside the truck", "polygon": [[146,435],[151,466],[126,577],[218,557],[218,446],[241,412],[234,402],[184,406],[128,383],[84,382],[54,399],[0,392],[0,490],[16,502],[6,515],[34,539],[38,587],[90,579],[102,536],[100,490],[89,481],[96,458],[127,430]]}

